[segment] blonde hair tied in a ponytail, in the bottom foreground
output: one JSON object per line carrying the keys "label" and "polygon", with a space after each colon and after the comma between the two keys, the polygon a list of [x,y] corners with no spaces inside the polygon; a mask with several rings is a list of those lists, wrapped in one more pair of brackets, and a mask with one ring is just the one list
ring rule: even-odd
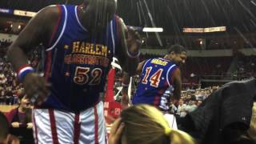
{"label": "blonde hair tied in a ponytail, in the bottom foreground", "polygon": [[123,137],[128,144],[194,144],[189,134],[171,130],[162,112],[154,106],[137,105],[122,111]]}

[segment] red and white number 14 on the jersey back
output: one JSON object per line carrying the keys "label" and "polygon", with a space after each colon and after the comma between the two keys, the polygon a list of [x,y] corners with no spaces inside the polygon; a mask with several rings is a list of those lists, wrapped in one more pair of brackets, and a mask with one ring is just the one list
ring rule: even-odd
{"label": "red and white number 14 on the jersey back", "polygon": [[[150,75],[150,71],[152,70],[152,67],[147,67],[146,68],[146,74],[145,76],[142,78],[142,83],[143,84],[147,84],[148,82],[148,77]],[[154,86],[154,87],[158,87],[159,82],[160,82],[160,78],[162,75],[162,69],[159,69],[157,72],[155,72],[151,77],[150,77],[150,86]]]}

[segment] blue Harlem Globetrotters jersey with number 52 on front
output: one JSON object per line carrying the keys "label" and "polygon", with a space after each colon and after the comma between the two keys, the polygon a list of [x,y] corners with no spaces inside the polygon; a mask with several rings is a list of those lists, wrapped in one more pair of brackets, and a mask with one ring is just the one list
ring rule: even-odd
{"label": "blue Harlem Globetrotters jersey with number 52 on front", "polygon": [[46,49],[44,77],[51,83],[42,108],[79,112],[99,102],[116,46],[117,16],[106,31],[92,34],[78,19],[78,6],[58,6],[62,11],[56,33]]}

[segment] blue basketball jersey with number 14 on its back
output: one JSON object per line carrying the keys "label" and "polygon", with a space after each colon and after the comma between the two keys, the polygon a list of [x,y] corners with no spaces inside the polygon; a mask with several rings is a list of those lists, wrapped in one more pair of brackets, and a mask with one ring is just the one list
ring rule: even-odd
{"label": "blue basketball jersey with number 14 on its back", "polygon": [[171,77],[177,68],[174,62],[165,58],[147,60],[132,103],[146,103],[163,111],[169,110],[170,96],[174,92]]}

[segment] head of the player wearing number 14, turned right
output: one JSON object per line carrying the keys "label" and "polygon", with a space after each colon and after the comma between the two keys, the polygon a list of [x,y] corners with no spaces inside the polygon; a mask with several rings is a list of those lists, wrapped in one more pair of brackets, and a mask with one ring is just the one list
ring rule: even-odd
{"label": "head of the player wearing number 14, turned right", "polygon": [[166,58],[174,61],[176,64],[184,64],[186,62],[186,49],[181,45],[167,46]]}

